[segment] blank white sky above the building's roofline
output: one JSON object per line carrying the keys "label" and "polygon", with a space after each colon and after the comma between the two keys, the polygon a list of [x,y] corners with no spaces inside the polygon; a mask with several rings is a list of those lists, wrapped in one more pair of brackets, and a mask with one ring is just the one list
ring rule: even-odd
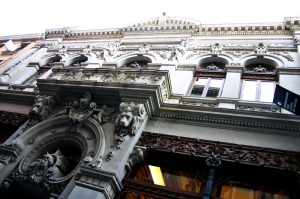
{"label": "blank white sky above the building's roofline", "polygon": [[283,22],[300,16],[300,0],[0,0],[0,8],[0,36],[68,26],[121,28],[162,12],[202,24]]}

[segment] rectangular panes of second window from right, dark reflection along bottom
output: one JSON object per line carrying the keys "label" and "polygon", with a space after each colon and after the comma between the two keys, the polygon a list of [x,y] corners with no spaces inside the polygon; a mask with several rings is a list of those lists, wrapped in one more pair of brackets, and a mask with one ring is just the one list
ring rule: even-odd
{"label": "rectangular panes of second window from right, dark reflection along bottom", "polygon": [[219,97],[224,79],[197,78],[190,93],[192,97]]}

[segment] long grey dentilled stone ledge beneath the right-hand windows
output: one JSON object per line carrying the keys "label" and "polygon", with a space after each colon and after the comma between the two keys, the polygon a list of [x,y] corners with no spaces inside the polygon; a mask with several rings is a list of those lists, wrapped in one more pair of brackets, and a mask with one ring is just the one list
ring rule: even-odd
{"label": "long grey dentilled stone ledge beneath the right-hand windows", "polygon": [[174,122],[190,122],[224,129],[234,128],[258,133],[300,136],[299,118],[295,115],[214,108],[207,102],[205,104],[208,106],[197,106],[192,102],[192,100],[185,100],[185,104],[180,106],[164,104],[160,107],[157,117],[174,120]]}

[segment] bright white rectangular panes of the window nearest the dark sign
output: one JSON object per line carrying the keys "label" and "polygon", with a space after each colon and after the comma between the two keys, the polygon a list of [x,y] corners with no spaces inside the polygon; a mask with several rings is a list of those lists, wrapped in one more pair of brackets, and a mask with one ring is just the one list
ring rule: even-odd
{"label": "bright white rectangular panes of the window nearest the dark sign", "polygon": [[241,100],[272,102],[275,82],[262,80],[243,80]]}

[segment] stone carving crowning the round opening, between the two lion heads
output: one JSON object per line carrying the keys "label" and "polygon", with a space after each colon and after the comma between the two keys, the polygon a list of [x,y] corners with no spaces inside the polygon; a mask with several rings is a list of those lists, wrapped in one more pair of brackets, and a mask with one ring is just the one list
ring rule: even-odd
{"label": "stone carving crowning the round opening, between the two lion heads", "polygon": [[78,132],[83,123],[89,117],[94,118],[96,121],[102,124],[105,121],[106,105],[104,105],[101,109],[97,109],[97,104],[95,102],[91,102],[91,99],[91,93],[86,92],[84,97],[81,98],[79,102],[70,102],[68,106],[66,106],[65,110],[54,114],[53,117],[59,115],[68,115],[71,121],[71,126],[68,130],[71,132]]}

